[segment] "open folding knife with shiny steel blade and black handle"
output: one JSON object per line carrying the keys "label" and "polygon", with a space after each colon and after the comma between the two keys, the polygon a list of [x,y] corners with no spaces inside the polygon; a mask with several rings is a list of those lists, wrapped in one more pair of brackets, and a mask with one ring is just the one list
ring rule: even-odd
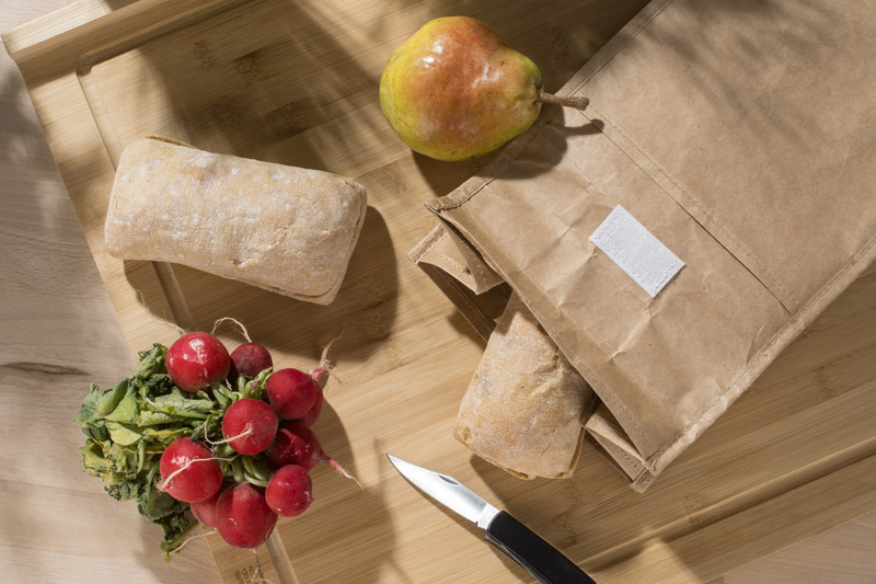
{"label": "open folding knife with shiny steel blade and black handle", "polygon": [[587,584],[593,580],[527,526],[499,511],[458,480],[387,455],[417,489],[486,529],[485,538],[527,569],[542,584]]}

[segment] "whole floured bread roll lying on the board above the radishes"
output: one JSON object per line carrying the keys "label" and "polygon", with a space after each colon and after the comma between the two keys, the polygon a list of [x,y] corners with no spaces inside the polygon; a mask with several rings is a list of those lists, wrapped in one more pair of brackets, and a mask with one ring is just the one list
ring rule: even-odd
{"label": "whole floured bread roll lying on the board above the radishes", "polygon": [[148,137],[119,160],[106,249],[327,305],[366,206],[365,187],[344,176]]}

